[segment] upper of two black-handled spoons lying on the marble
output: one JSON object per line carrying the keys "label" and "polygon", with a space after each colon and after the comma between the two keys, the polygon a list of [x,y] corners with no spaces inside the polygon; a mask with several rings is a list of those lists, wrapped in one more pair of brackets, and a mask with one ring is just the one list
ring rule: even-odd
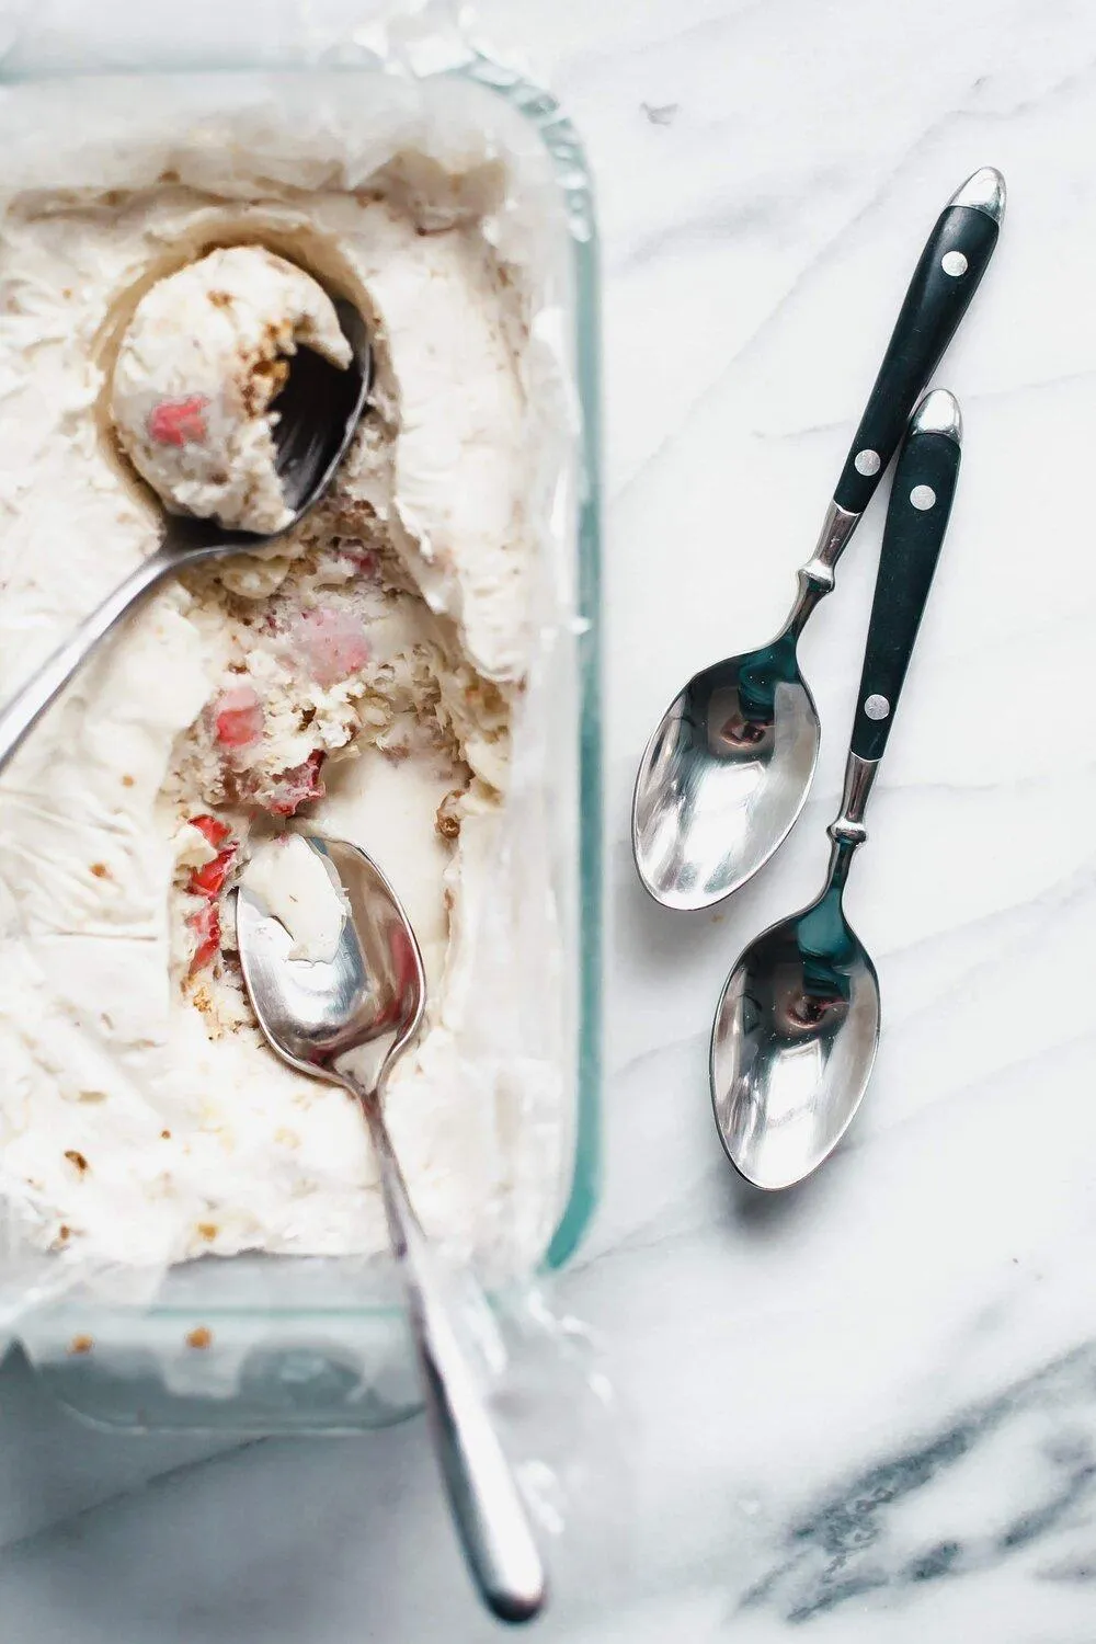
{"label": "upper of two black-handled spoons lying on the marble", "polygon": [[928,237],[841,470],[799,595],[771,644],[695,674],[639,761],[633,852],[665,907],[710,907],[787,838],[818,760],[818,712],[795,646],[868,506],[905,421],[997,243],[1004,178],[976,171]]}

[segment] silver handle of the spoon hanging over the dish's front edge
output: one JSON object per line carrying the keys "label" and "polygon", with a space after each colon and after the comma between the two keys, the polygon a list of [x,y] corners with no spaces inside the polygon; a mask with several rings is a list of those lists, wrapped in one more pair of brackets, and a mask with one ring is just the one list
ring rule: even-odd
{"label": "silver handle of the spoon hanging over the dish's front edge", "polygon": [[380,1161],[393,1254],[408,1297],[426,1412],[472,1577],[503,1621],[529,1621],[546,1575],[529,1514],[452,1322],[450,1302],[376,1095],[355,1085]]}

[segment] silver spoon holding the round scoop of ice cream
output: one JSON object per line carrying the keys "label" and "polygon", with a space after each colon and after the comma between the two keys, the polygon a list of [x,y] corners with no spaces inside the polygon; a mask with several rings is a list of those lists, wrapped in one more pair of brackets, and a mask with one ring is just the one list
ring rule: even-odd
{"label": "silver spoon holding the round scoop of ice cream", "polygon": [[[319,501],[334,480],[370,391],[373,358],[365,321],[350,302],[337,301],[335,311],[353,349],[347,370],[340,370],[311,349],[301,349],[292,357],[289,380],[278,396],[279,421],[274,424],[278,473],[286,503],[292,508],[286,531]],[[76,633],[0,709],[0,771],[100,640],[117,628],[158,582],[174,577],[187,566],[261,547],[283,534],[284,531],[271,536],[225,531],[212,520],[164,511],[159,547],[143,559],[90,616],[84,618]]]}

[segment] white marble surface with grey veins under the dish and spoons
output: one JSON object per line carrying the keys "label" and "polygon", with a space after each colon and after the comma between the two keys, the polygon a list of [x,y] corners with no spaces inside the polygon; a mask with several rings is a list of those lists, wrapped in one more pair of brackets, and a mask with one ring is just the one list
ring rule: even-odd
{"label": "white marble surface with grey veins under the dish and spoons", "polygon": [[[1096,15],[496,10],[585,133],[605,232],[608,1180],[559,1300],[601,1337],[628,1463],[541,1637],[1091,1644]],[[879,498],[808,628],[822,766],[777,863],[725,912],[661,914],[631,779],[677,684],[782,616],[923,235],[984,163],[1009,214],[937,378],[960,496],[850,889],[882,1051],[841,1154],[761,1198],[715,1143],[707,1034],[825,863]],[[85,1432],[10,1361],[2,1636],[491,1636],[417,1429],[210,1448]]]}

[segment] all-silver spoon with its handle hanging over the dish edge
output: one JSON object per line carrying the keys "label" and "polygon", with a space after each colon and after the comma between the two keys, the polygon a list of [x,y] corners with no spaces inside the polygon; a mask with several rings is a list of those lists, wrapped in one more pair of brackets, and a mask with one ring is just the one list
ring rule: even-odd
{"label": "all-silver spoon with its handle hanging over the dish edge", "polygon": [[304,837],[347,893],[350,917],[335,957],[329,963],[288,958],[289,932],[242,884],[237,940],[243,981],[278,1055],[301,1074],[342,1085],[361,1105],[460,1542],[490,1609],[503,1621],[527,1621],[544,1605],[544,1565],[385,1124],[385,1080],[419,1031],[426,1006],[419,944],[399,898],[363,850],[314,834]]}

